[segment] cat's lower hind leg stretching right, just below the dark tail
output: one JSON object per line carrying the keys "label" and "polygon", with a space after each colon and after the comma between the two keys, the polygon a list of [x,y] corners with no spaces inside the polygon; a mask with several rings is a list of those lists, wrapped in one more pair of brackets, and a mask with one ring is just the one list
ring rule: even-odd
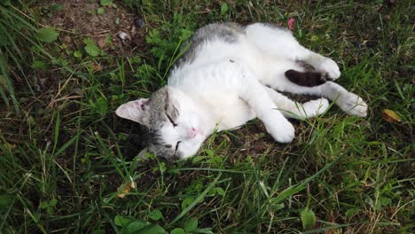
{"label": "cat's lower hind leg stretching right, just below the dark tail", "polygon": [[314,87],[304,87],[287,80],[274,80],[274,83],[268,83],[268,85],[280,91],[322,96],[334,101],[346,113],[360,117],[367,115],[367,104],[364,100],[335,82],[325,82]]}

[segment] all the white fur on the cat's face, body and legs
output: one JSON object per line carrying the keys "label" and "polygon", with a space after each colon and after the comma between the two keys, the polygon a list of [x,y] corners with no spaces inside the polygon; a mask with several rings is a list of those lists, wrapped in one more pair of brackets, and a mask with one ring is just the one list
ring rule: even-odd
{"label": "all the white fur on the cat's face, body and legs", "polygon": [[[163,127],[162,137],[173,145],[180,141],[179,150],[184,158],[196,153],[215,128],[238,128],[255,117],[263,121],[276,141],[291,142],[294,127],[286,117],[305,119],[324,113],[329,106],[325,98],[335,100],[347,113],[366,115],[367,105],[362,98],[336,83],[310,88],[286,79],[286,70],[302,69],[297,60],[309,63],[333,79],[341,75],[331,58],[305,49],[286,29],[253,24],[235,43],[218,38],[199,49],[194,61],[177,67],[168,78],[169,90],[180,105],[181,114],[176,128]],[[301,105],[276,90],[325,98]],[[190,128],[203,130],[189,138],[186,129]]]}

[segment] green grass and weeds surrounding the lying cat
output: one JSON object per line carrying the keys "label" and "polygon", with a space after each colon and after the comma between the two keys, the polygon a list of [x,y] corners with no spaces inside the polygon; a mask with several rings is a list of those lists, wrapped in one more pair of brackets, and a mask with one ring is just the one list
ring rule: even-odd
{"label": "green grass and weeds surrounding the lying cat", "polygon": [[[411,1],[84,1],[94,4],[85,17],[99,7],[99,17],[144,21],[133,45],[117,28],[97,31],[103,47],[56,24],[71,12],[52,2],[0,4],[0,232],[413,232]],[[130,157],[141,130],[115,108],[164,85],[194,30],[290,17],[302,44],[339,62],[339,82],[368,101],[368,117],[333,107],[293,121],[291,144],[251,121],[215,133],[190,160]],[[57,27],[56,40],[43,27]]]}

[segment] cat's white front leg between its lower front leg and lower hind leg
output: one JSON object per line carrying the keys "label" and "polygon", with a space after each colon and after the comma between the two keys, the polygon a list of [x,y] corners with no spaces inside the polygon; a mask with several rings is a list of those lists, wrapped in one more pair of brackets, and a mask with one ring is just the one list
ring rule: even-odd
{"label": "cat's white front leg between its lower front leg and lower hind leg", "polygon": [[317,116],[321,113],[325,113],[329,107],[328,100],[325,98],[319,98],[317,100],[311,100],[309,102],[300,104],[278,93],[278,91],[270,89],[266,86],[265,90],[267,90],[270,98],[278,106],[278,110],[287,118],[304,120]]}

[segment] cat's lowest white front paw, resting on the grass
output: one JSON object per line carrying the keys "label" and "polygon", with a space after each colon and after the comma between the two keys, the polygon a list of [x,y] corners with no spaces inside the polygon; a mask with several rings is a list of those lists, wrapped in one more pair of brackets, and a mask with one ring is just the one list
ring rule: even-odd
{"label": "cat's lowest white front paw, resting on the grass", "polygon": [[265,125],[270,135],[279,143],[290,143],[294,139],[295,129],[286,118],[278,120],[275,124]]}

